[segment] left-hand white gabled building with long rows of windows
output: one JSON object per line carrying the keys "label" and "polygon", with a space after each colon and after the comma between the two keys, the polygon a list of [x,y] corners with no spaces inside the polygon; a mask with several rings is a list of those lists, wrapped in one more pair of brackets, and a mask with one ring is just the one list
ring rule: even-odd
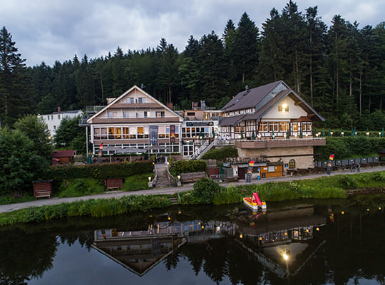
{"label": "left-hand white gabled building with long rows of windows", "polygon": [[[93,154],[99,145],[135,147],[151,153],[180,153],[183,118],[133,86],[87,120]],[[143,151],[144,152],[144,151]]]}

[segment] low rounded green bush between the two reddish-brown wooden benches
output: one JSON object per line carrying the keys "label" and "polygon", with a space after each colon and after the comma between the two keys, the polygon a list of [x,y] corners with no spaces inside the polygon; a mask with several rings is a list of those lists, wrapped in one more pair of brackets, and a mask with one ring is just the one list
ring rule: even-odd
{"label": "low rounded green bush between the two reddish-brown wooden benches", "polygon": [[106,187],[101,182],[93,178],[76,178],[74,180],[66,180],[61,183],[59,198],[63,197],[79,197],[84,195],[93,195],[103,193]]}

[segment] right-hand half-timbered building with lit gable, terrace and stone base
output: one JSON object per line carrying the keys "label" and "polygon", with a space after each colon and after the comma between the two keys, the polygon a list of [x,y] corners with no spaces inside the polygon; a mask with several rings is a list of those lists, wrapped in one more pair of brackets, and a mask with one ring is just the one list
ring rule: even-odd
{"label": "right-hand half-timbered building with lit gable, terrace and stone base", "polygon": [[284,81],[248,89],[222,108],[220,135],[235,141],[240,157],[267,157],[284,170],[314,167],[313,122],[324,120]]}

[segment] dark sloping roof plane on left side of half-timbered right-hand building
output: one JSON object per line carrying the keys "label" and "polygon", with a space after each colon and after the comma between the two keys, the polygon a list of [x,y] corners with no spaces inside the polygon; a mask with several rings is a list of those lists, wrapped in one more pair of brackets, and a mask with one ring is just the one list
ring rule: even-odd
{"label": "dark sloping roof plane on left side of half-timbered right-hand building", "polygon": [[283,81],[275,81],[273,83],[259,86],[257,88],[248,89],[235,95],[229,103],[222,108],[223,112],[230,112],[232,110],[242,110],[247,108],[254,108],[267,94],[269,94],[275,87]]}

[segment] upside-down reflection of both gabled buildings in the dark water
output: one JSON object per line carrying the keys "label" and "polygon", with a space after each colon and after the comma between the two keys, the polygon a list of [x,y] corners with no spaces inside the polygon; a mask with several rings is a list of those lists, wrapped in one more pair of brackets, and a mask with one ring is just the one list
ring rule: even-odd
{"label": "upside-down reflection of both gabled buildings in the dark water", "polygon": [[94,232],[92,247],[143,276],[183,244],[230,237],[240,251],[284,279],[297,274],[324,244],[314,234],[326,218],[314,215],[314,207],[267,214],[241,210],[234,217],[230,222],[168,221],[145,229],[100,229]]}

